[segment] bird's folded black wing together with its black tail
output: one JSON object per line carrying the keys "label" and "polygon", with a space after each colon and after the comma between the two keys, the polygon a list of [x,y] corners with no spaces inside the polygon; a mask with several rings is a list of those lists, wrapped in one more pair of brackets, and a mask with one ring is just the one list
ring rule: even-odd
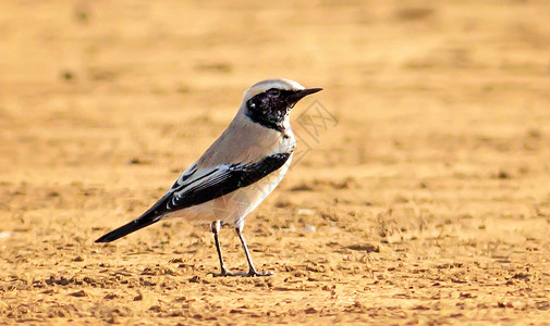
{"label": "bird's folded black wing together with its black tail", "polygon": [[163,215],[201,204],[249,186],[281,168],[292,153],[277,153],[259,162],[222,164],[211,168],[192,165],[174,183],[172,188],[142,216],[108,233],[96,242],[110,242],[151,225]]}

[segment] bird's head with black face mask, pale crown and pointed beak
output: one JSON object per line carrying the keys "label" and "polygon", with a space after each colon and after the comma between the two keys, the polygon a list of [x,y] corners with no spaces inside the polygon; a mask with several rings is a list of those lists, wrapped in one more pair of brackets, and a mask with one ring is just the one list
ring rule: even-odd
{"label": "bird's head with black face mask, pale crown and pointed beak", "polygon": [[254,122],[278,129],[301,99],[321,89],[306,89],[289,79],[267,79],[245,91],[243,109]]}

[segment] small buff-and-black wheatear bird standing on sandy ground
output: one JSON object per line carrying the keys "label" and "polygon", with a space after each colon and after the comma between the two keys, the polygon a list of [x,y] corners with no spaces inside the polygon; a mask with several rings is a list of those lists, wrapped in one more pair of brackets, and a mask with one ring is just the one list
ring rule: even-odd
{"label": "small buff-and-black wheatear bird standing on sandy ground", "polygon": [[289,120],[292,108],[319,90],[305,89],[289,79],[268,79],[250,87],[225,131],[172,188],[137,220],[96,242],[117,240],[169,216],[213,221],[210,227],[221,268],[215,276],[231,276],[223,263],[218,231],[222,225],[232,224],[248,261],[244,276],[271,275],[254,267],[242,234],[244,218],[277,187],[289,168],[296,146]]}

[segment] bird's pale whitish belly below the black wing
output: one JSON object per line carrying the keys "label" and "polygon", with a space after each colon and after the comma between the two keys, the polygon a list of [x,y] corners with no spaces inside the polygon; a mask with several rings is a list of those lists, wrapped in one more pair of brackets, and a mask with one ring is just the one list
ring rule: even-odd
{"label": "bird's pale whitish belly below the black wing", "polygon": [[171,213],[167,217],[183,217],[188,221],[212,222],[220,220],[223,224],[240,227],[244,217],[279,185],[286,174],[292,155],[281,168],[247,187],[215,200]]}

